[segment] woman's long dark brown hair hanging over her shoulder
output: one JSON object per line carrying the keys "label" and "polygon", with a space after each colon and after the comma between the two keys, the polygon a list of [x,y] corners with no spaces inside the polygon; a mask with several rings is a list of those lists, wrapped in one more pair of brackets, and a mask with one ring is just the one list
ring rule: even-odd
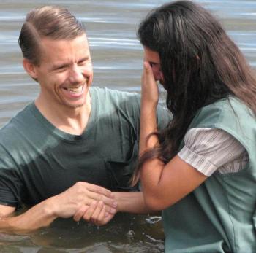
{"label": "woman's long dark brown hair hanging over her shoulder", "polygon": [[167,109],[173,120],[157,133],[159,146],[145,152],[140,167],[158,157],[167,163],[197,110],[229,95],[236,96],[256,114],[256,82],[252,70],[218,20],[192,1],[174,1],[154,9],[140,23],[138,38],[159,53],[167,90]]}

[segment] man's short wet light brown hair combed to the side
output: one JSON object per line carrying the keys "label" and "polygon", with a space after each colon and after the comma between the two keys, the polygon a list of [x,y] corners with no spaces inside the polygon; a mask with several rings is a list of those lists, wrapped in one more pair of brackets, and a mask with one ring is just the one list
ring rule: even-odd
{"label": "man's short wet light brown hair combed to the side", "polygon": [[85,34],[85,28],[67,9],[44,6],[32,9],[26,15],[18,43],[23,58],[36,65],[40,61],[40,41],[50,39],[75,39]]}

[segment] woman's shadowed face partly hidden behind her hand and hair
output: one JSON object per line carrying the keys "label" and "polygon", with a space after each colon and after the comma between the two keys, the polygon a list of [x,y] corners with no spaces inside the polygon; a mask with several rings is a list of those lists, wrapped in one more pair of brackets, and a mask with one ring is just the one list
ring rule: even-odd
{"label": "woman's shadowed face partly hidden behind her hand and hair", "polygon": [[148,61],[151,65],[154,79],[161,84],[164,83],[164,75],[162,74],[159,53],[144,47],[144,61]]}

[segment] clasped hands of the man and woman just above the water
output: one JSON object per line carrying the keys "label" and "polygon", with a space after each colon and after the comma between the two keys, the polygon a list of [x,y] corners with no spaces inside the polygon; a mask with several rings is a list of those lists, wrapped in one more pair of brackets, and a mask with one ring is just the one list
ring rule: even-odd
{"label": "clasped hands of the man and woman just above the water", "polygon": [[56,217],[84,219],[95,225],[105,225],[117,212],[117,202],[110,190],[95,184],[77,182],[59,195],[52,197]]}

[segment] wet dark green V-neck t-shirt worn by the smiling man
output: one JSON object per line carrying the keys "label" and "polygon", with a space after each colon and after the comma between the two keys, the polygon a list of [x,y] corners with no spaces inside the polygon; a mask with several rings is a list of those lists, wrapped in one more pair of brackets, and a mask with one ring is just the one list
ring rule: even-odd
{"label": "wet dark green V-neck t-shirt worn by the smiling man", "polygon": [[[64,133],[34,103],[0,131],[0,203],[34,205],[75,182],[129,187],[138,157],[140,96],[91,87],[91,115],[80,136]],[[159,109],[160,125],[170,119]]]}

